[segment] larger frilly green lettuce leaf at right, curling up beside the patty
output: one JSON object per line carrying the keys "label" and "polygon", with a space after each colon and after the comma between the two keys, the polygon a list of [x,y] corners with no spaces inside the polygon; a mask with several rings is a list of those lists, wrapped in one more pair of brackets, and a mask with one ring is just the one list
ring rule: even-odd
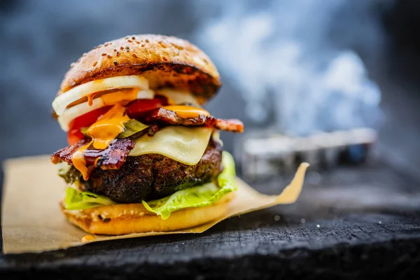
{"label": "larger frilly green lettuce leaf at right, curling up beside the patty", "polygon": [[207,183],[203,186],[179,190],[173,195],[159,200],[143,201],[144,207],[166,220],[174,211],[189,207],[205,207],[217,202],[223,195],[237,190],[235,162],[232,155],[223,151],[222,161],[224,168],[218,176],[218,186],[214,183]]}

